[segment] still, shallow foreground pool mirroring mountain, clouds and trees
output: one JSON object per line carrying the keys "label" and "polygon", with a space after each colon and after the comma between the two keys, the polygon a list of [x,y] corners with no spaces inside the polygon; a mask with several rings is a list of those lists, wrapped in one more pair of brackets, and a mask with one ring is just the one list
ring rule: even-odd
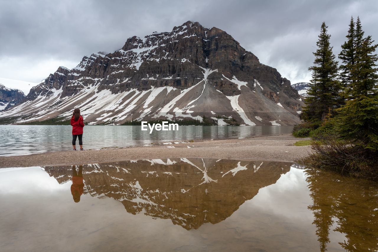
{"label": "still, shallow foreground pool mirroring mountain, clouds and trees", "polygon": [[0,174],[1,251],[378,249],[377,184],[294,163],[153,159]]}

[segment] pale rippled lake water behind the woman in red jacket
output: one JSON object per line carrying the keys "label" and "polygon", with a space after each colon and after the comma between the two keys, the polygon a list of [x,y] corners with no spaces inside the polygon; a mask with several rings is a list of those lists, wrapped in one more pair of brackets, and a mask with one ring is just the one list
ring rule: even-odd
{"label": "pale rippled lake water behind the woman in red jacket", "polygon": [[[178,131],[141,131],[141,126],[85,126],[84,149],[150,145],[151,143],[245,138],[291,133],[292,126],[178,126]],[[0,125],[0,156],[72,149],[72,127],[62,125]],[[79,147],[79,140],[76,140]],[[79,149],[79,148],[77,148]]]}

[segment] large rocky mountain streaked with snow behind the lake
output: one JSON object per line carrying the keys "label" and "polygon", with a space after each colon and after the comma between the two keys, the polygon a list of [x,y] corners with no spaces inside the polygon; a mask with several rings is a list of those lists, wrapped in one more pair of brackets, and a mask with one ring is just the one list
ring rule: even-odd
{"label": "large rocky mountain streaked with snow behind the lake", "polygon": [[84,56],[71,70],[59,67],[0,117],[68,119],[79,107],[89,124],[206,116],[220,125],[222,117],[294,125],[303,105],[290,81],[225,31],[188,21],[171,32],[130,37],[113,53]]}

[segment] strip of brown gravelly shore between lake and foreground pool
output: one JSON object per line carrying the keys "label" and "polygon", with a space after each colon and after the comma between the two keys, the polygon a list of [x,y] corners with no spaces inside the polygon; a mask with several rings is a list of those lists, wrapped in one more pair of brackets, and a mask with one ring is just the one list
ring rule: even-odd
{"label": "strip of brown gravelly shore between lake and foreground pool", "polygon": [[0,168],[77,165],[121,160],[180,157],[295,162],[311,152],[310,146],[293,145],[298,140],[306,139],[295,138],[291,134],[282,134],[245,139],[202,140],[192,143],[147,147],[55,151],[24,156],[0,157]]}

